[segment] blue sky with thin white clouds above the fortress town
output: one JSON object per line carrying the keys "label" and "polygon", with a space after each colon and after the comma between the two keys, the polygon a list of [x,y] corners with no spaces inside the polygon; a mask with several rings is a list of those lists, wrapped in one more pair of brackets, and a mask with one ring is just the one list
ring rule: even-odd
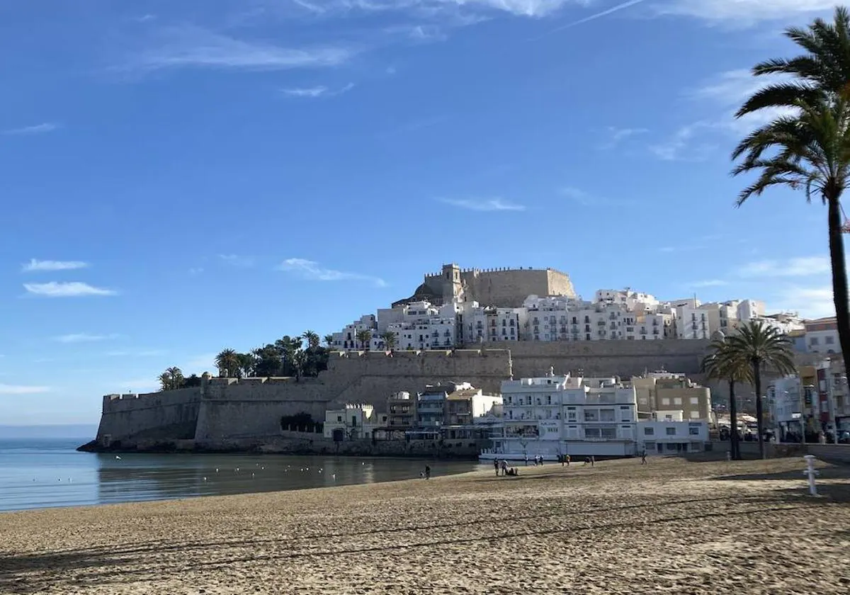
{"label": "blue sky with thin white clouds above the fortress town", "polygon": [[825,207],[734,208],[729,152],[748,69],[832,4],[0,0],[0,424],[450,262],[831,314]]}

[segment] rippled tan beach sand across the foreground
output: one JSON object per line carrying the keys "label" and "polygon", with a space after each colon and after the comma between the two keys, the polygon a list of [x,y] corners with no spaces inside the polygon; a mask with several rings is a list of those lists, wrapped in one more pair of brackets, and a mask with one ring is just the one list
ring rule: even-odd
{"label": "rippled tan beach sand across the foreground", "polygon": [[[433,463],[435,471],[439,462]],[[850,467],[650,459],[0,514],[0,593],[850,592]]]}

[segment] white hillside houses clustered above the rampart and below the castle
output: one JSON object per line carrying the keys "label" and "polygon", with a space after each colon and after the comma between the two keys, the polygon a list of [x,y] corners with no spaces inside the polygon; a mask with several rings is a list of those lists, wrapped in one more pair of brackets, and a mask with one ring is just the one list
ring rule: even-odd
{"label": "white hillside houses clustered above the rampart and below the castle", "polygon": [[[838,350],[834,319],[803,320],[792,312],[767,314],[758,300],[703,303],[694,296],[662,301],[631,288],[601,289],[592,300],[583,300],[569,286],[563,295],[524,294],[519,306],[508,305],[513,301],[510,297],[479,303],[475,293],[466,290],[455,264],[443,269],[456,280],[446,283],[441,294],[425,291],[423,284],[410,299],[378,309],[377,314],[365,314],[333,333],[331,347],[420,350],[484,342],[710,339],[717,331],[728,333],[740,325],[761,322],[793,337],[801,351]],[[518,291],[530,285],[521,284]],[[811,336],[805,339],[807,333]]]}

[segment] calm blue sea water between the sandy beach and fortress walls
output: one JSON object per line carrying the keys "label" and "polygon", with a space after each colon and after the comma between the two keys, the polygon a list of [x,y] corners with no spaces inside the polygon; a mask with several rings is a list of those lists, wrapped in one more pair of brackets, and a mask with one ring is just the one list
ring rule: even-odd
{"label": "calm blue sea water between the sandy beach and fortress walls", "polygon": [[[334,456],[77,452],[86,439],[0,439],[0,510],[298,490],[418,478],[426,462]],[[489,466],[428,462],[435,476]]]}

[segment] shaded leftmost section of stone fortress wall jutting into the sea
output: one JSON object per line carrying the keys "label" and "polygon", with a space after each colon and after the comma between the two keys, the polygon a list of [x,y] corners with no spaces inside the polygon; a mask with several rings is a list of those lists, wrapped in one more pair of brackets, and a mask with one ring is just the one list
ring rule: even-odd
{"label": "shaded leftmost section of stone fortress wall jutting into the sea", "polygon": [[[97,438],[127,439],[139,433],[178,433],[191,438],[201,402],[200,388],[181,388],[165,393],[106,395]],[[185,435],[188,434],[188,435]]]}

